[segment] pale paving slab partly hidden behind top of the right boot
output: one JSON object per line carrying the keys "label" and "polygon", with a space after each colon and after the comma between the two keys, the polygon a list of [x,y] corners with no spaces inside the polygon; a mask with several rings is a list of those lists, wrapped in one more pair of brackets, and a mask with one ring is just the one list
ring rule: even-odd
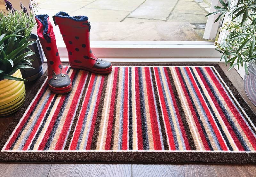
{"label": "pale paving slab partly hidden behind top of the right boot", "polygon": [[129,13],[130,12],[128,11],[81,8],[75,12],[72,12],[70,15],[85,15],[89,18],[89,21],[93,22],[120,22]]}

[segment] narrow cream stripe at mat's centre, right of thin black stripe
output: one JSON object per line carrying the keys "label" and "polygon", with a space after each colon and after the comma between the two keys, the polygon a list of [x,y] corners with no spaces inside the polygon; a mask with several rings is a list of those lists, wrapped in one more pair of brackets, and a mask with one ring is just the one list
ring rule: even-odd
{"label": "narrow cream stripe at mat's centre, right of thin black stripe", "polygon": [[[132,67],[132,146],[133,150],[138,150],[137,137],[137,115],[136,115],[136,97],[135,97],[135,68]],[[139,94],[139,93],[137,93]]]}

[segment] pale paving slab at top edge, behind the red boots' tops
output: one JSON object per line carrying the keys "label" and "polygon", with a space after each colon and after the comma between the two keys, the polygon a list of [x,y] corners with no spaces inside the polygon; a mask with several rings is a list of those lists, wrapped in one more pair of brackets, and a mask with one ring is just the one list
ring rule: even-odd
{"label": "pale paving slab at top edge, behind the red boots' tops", "polygon": [[63,0],[51,0],[40,3],[41,9],[59,10],[59,11],[76,11],[90,2],[76,2],[76,1],[63,1]]}

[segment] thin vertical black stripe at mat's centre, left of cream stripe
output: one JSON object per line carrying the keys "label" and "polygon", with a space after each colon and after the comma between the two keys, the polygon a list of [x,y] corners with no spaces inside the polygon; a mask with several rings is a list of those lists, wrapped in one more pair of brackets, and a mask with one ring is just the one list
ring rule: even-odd
{"label": "thin vertical black stripe at mat's centre, left of cream stripe", "polygon": [[129,67],[129,150],[132,150],[132,68]]}

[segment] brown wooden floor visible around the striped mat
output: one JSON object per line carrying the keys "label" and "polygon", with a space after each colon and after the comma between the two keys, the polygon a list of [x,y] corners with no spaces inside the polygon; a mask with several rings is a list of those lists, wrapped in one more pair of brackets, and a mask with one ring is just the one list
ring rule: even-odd
{"label": "brown wooden floor visible around the striped mat", "polygon": [[[249,101],[244,92],[243,79],[233,68],[227,72],[225,64],[220,63],[228,78],[235,85],[245,101],[256,113],[256,107]],[[44,68],[47,65],[44,64]],[[33,83],[26,84],[26,90]],[[28,95],[28,94],[27,94]],[[0,118],[0,136],[12,121],[12,117]],[[229,164],[170,164],[170,165],[142,165],[142,164],[17,164],[0,163],[0,177],[172,177],[172,176],[207,176],[207,177],[247,177],[256,176],[256,165]]]}

